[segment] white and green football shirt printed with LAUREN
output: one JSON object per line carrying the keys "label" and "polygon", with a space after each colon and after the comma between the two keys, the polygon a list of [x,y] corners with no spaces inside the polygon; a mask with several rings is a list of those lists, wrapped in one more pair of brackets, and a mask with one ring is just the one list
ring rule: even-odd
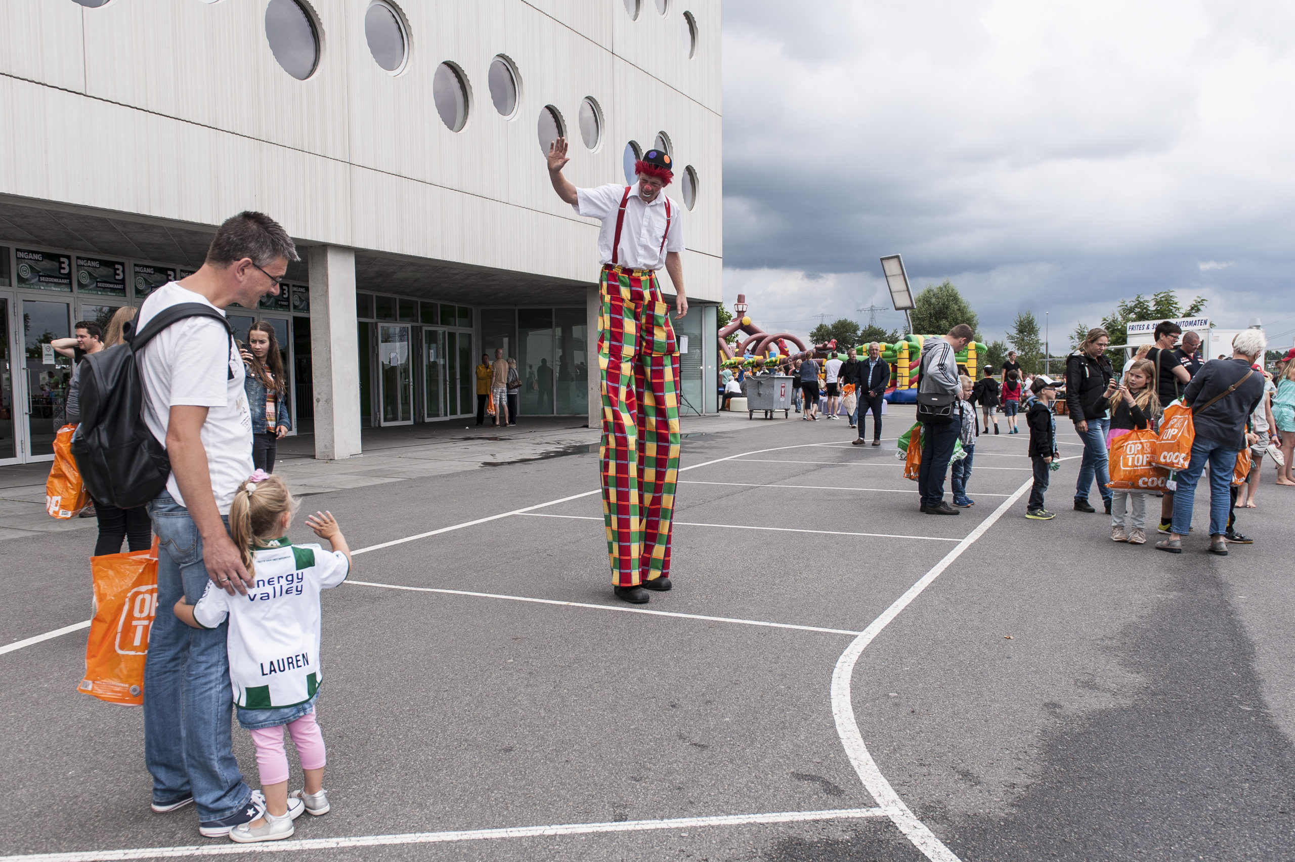
{"label": "white and green football shirt printed with LAUREN", "polygon": [[193,619],[208,629],[229,619],[229,680],[243,709],[294,707],[315,696],[324,681],[320,590],[350,573],[342,551],[291,545],[286,536],[271,545],[254,554],[256,584],[247,595],[208,582],[193,608]]}

